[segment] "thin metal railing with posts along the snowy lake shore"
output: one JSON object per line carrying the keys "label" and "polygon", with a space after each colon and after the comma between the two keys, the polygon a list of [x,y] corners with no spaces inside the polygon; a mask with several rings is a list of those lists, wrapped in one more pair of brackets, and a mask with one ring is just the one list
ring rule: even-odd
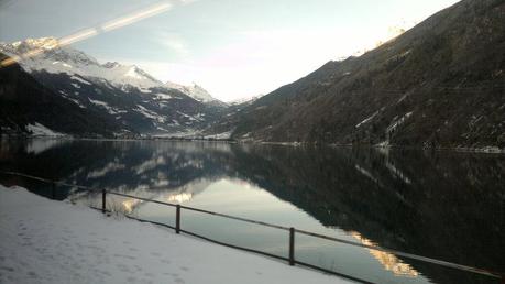
{"label": "thin metal railing with posts along the snowy lake shore", "polygon": [[[153,203],[153,204],[160,204],[160,205],[164,205],[164,206],[175,207],[176,208],[176,226],[175,227],[166,225],[166,223],[162,223],[162,222],[156,222],[156,221],[151,221],[151,220],[145,220],[145,219],[132,217],[132,216],[129,216],[129,215],[123,215],[123,216],[129,218],[129,219],[138,220],[138,221],[141,221],[141,222],[150,222],[150,223],[153,223],[153,225],[171,228],[171,229],[174,229],[176,231],[176,233],[183,232],[183,233],[186,233],[188,236],[193,236],[193,237],[196,237],[196,238],[199,238],[199,239],[212,242],[212,243],[217,243],[217,244],[221,244],[221,245],[233,248],[233,249],[239,249],[239,250],[243,250],[243,251],[248,251],[248,252],[262,254],[262,255],[265,255],[265,256],[268,256],[268,258],[273,258],[273,259],[287,261],[289,263],[289,265],[299,264],[299,265],[303,265],[303,266],[306,266],[306,267],[309,267],[309,269],[318,270],[318,271],[321,271],[321,272],[325,272],[325,273],[328,273],[328,274],[345,277],[345,278],[349,278],[349,280],[352,280],[352,281],[356,281],[356,282],[361,282],[361,283],[373,283],[373,282],[364,281],[364,280],[361,280],[361,278],[356,278],[354,276],[350,276],[350,275],[342,274],[342,273],[339,273],[339,272],[336,272],[336,271],[327,270],[327,269],[323,269],[323,267],[320,267],[320,266],[317,266],[317,265],[314,265],[314,264],[310,264],[310,263],[297,261],[295,259],[295,233],[300,233],[300,234],[310,236],[310,237],[315,237],[315,238],[319,238],[319,239],[325,239],[325,240],[329,240],[329,241],[333,241],[333,242],[338,242],[338,243],[343,243],[343,244],[348,244],[348,245],[352,245],[352,247],[356,247],[356,248],[382,251],[382,252],[386,252],[386,253],[395,254],[395,255],[398,255],[398,256],[403,256],[403,258],[407,258],[407,259],[411,259],[411,260],[416,260],[416,261],[420,261],[420,262],[425,262],[425,263],[430,263],[430,264],[435,264],[435,265],[439,265],[439,266],[443,266],[443,267],[448,267],[448,269],[453,269],[453,270],[459,270],[459,271],[463,271],[463,272],[485,275],[485,276],[494,277],[494,278],[497,278],[497,280],[502,280],[502,283],[505,283],[505,274],[504,273],[493,272],[493,271],[490,271],[490,270],[472,267],[472,266],[468,266],[468,265],[457,264],[457,263],[452,263],[452,262],[448,262],[448,261],[431,259],[431,258],[427,258],[427,256],[421,256],[421,255],[411,254],[411,253],[407,253],[407,252],[402,252],[402,251],[397,251],[397,250],[381,248],[381,247],[376,247],[376,245],[362,244],[362,243],[352,242],[352,241],[348,241],[348,240],[340,239],[340,238],[334,238],[334,237],[330,237],[330,236],[309,232],[309,231],[295,229],[295,228],[289,228],[289,227],[285,227],[285,226],[279,226],[279,225],[273,225],[273,223],[268,223],[268,222],[252,220],[252,219],[248,219],[248,218],[231,216],[231,215],[227,215],[227,214],[220,214],[220,212],[209,211],[209,210],[205,210],[205,209],[199,209],[199,208],[177,205],[177,204],[171,204],[171,203],[153,200],[153,199],[150,199],[150,198],[143,198],[143,197],[139,197],[139,196],[122,194],[122,193],[107,190],[107,189],[97,189],[97,188],[92,188],[92,187],[88,187],[88,186],[67,184],[67,183],[64,183],[64,182],[52,181],[52,179],[47,179],[47,178],[43,178],[43,177],[39,177],[39,176],[33,176],[33,175],[28,175],[28,174],[23,174],[23,173],[18,173],[18,172],[0,171],[0,174],[20,176],[20,177],[25,177],[25,178],[43,182],[43,183],[48,183],[48,184],[53,185],[53,189],[54,189],[55,185],[62,185],[62,186],[74,187],[74,188],[84,189],[84,190],[88,190],[88,192],[92,192],[92,193],[101,193],[101,195],[102,195],[101,208],[97,208],[97,207],[92,207],[92,206],[90,206],[90,208],[99,210],[99,211],[102,211],[103,214],[106,214],[106,212],[111,214],[112,212],[112,211],[110,211],[110,210],[108,210],[106,208],[107,207],[107,203],[106,201],[107,201],[107,195],[108,194],[116,195],[116,196],[121,196],[121,197],[127,197],[127,198],[132,198],[132,199],[138,199],[138,200],[145,201],[145,203]],[[196,211],[196,212],[218,216],[218,217],[222,217],[222,218],[227,218],[227,219],[232,219],[232,220],[238,220],[238,221],[243,221],[243,222],[249,222],[249,223],[254,223],[254,225],[260,225],[260,226],[264,226],[264,227],[268,227],[268,228],[274,228],[274,229],[288,231],[289,232],[289,236],[288,236],[288,240],[289,240],[289,247],[288,247],[289,256],[288,258],[284,258],[284,256],[275,255],[275,254],[267,253],[267,252],[264,252],[264,251],[259,251],[259,250],[243,248],[243,247],[239,247],[239,245],[234,245],[234,244],[230,244],[230,243],[224,243],[224,242],[217,241],[217,240],[213,240],[211,238],[208,238],[208,237],[195,233],[195,232],[190,232],[190,231],[184,230],[184,229],[180,228],[180,211],[182,211],[182,209],[186,209],[186,210],[190,210],[190,211]]]}

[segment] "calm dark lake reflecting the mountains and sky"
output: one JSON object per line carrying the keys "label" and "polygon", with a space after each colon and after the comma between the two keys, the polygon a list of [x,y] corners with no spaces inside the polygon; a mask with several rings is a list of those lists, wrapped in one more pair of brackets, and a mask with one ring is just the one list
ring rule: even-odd
{"label": "calm dark lake reflecting the mountains and sky", "polygon": [[[7,140],[0,170],[106,188],[459,264],[505,267],[505,155],[223,142]],[[51,186],[0,175],[52,196]],[[101,195],[58,187],[99,207]],[[173,226],[175,209],[108,195],[108,208]],[[288,234],[183,210],[183,229],[287,256]],[[149,240],[146,240],[149,241]],[[296,258],[376,283],[499,283],[296,234]],[[211,244],[209,244],[211,245]],[[160,243],[161,250],[169,250]]]}

